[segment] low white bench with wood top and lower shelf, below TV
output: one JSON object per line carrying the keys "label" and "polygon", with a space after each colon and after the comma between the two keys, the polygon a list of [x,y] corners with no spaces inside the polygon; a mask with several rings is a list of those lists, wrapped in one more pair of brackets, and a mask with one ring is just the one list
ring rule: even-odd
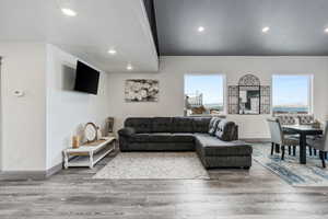
{"label": "low white bench with wood top and lower shelf, below TV", "polygon": [[93,168],[105,155],[115,151],[116,138],[107,137],[102,140],[85,143],[79,148],[68,148],[63,150],[63,166],[89,166]]}

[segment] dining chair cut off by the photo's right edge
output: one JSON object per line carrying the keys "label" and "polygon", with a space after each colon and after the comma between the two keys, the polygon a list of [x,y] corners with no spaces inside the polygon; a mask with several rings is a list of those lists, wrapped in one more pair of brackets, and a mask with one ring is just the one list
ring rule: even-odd
{"label": "dining chair cut off by the photo's right edge", "polygon": [[323,162],[323,168],[326,168],[325,160],[327,159],[328,151],[328,120],[325,124],[325,132],[321,138],[306,139],[306,143],[319,151],[319,158]]}

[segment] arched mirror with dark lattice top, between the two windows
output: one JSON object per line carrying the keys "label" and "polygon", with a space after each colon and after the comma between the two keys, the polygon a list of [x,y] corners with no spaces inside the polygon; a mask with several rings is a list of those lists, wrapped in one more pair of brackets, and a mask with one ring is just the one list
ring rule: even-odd
{"label": "arched mirror with dark lattice top, between the two windows", "polygon": [[238,113],[260,114],[260,81],[256,76],[246,74],[239,79]]}

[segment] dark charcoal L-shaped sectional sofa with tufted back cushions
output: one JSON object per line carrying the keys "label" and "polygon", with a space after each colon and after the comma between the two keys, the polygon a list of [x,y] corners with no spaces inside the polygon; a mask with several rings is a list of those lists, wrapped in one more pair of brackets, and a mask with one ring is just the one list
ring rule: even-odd
{"label": "dark charcoal L-shaped sectional sofa with tufted back cushions", "polygon": [[195,151],[206,169],[251,166],[251,146],[219,117],[130,117],[118,131],[121,152]]}

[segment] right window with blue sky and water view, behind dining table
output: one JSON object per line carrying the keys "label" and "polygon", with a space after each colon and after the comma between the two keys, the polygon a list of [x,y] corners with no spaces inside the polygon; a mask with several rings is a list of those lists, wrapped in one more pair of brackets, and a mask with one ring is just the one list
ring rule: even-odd
{"label": "right window with blue sky and water view, behind dining table", "polygon": [[308,114],[312,111],[312,76],[273,76],[273,114]]}

